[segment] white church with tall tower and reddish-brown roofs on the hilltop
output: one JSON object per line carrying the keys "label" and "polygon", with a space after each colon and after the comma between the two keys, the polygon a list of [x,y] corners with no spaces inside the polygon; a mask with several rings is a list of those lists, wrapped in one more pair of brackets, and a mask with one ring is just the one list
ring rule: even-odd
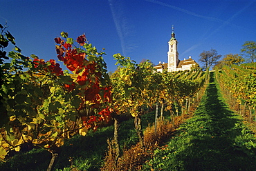
{"label": "white church with tall tower and reddish-brown roofs on the hilltop", "polygon": [[163,70],[167,69],[168,72],[174,72],[179,70],[191,70],[192,66],[196,65],[196,61],[191,59],[191,56],[189,59],[184,59],[183,61],[179,60],[179,53],[178,53],[178,41],[175,38],[174,34],[174,27],[172,26],[172,37],[169,44],[169,51],[167,52],[168,57],[168,63],[161,63],[159,61],[159,64],[157,66],[154,66],[156,68],[157,72],[163,72]]}

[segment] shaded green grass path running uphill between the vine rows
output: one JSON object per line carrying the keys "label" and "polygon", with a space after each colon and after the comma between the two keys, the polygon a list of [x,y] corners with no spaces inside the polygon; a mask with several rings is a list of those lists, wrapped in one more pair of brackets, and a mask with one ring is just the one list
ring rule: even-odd
{"label": "shaded green grass path running uphill between the vine rows", "polygon": [[194,117],[154,152],[145,170],[256,170],[256,137],[225,103],[210,74]]}

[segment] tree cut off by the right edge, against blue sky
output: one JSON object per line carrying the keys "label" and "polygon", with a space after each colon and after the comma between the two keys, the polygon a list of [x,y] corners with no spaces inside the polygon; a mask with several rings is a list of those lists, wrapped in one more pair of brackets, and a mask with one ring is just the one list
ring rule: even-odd
{"label": "tree cut off by the right edge, against blue sky", "polygon": [[255,41],[246,41],[242,45],[241,52],[245,57],[248,57],[251,62],[254,62],[256,59],[256,42]]}

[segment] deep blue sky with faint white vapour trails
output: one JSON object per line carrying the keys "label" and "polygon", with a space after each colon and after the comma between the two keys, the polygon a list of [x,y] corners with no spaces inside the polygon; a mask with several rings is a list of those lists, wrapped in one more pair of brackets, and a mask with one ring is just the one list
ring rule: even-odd
{"label": "deep blue sky with faint white vapour trails", "polygon": [[105,49],[112,72],[116,53],[137,63],[167,62],[172,25],[181,60],[198,61],[211,48],[237,54],[245,41],[256,41],[256,0],[1,0],[0,7],[0,23],[8,22],[22,54],[57,60],[53,39],[60,32],[74,39],[85,33]]}

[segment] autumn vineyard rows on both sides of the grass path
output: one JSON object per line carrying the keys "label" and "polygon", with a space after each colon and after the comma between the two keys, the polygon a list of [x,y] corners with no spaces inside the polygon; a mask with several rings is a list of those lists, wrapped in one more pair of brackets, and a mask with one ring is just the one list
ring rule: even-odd
{"label": "autumn vineyard rows on both sides of the grass path", "polygon": [[[150,160],[155,151],[192,117],[213,79],[213,72],[210,77],[198,66],[156,72],[149,61],[121,54],[113,55],[118,69],[109,76],[104,52],[84,34],[73,39],[62,32],[54,39],[57,59],[68,70],[54,59],[22,55],[3,26],[0,41],[1,170],[141,170],[145,163],[157,168]],[[14,50],[7,55],[8,46]],[[255,64],[215,74],[253,125]]]}

